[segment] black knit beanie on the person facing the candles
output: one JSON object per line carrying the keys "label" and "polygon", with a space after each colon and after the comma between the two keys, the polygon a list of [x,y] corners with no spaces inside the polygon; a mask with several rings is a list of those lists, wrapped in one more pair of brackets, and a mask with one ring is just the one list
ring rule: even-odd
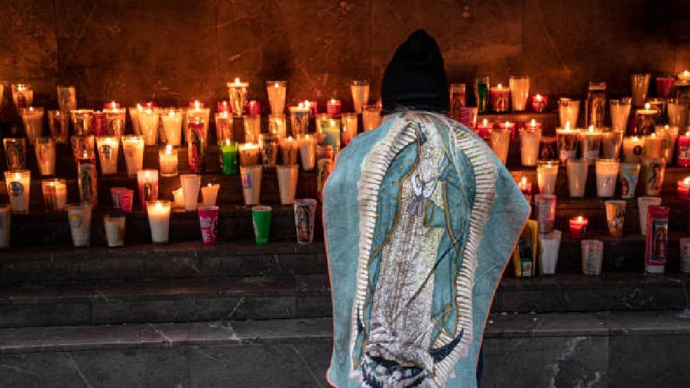
{"label": "black knit beanie on the person facing the candles", "polygon": [[395,50],[381,85],[382,115],[397,110],[447,112],[449,90],[441,50],[424,30]]}

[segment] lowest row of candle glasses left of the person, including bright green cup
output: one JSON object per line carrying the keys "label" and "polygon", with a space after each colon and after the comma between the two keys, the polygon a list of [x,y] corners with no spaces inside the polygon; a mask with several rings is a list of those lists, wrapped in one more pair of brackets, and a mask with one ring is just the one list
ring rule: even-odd
{"label": "lowest row of candle glasses left of the person, including bright green cup", "polygon": [[[297,243],[312,243],[317,201],[312,198],[293,201]],[[146,203],[151,241],[167,244],[170,241],[170,201],[150,201]],[[200,205],[197,209],[201,241],[204,245],[214,245],[217,241],[219,207]],[[252,207],[252,221],[257,245],[268,243],[270,221],[273,209],[270,206]],[[69,205],[66,207],[70,225],[72,244],[75,247],[88,247],[91,242],[91,205]],[[10,205],[0,205],[0,249],[10,247],[11,212]],[[106,232],[108,247],[122,247],[125,241],[126,214],[106,214],[103,216],[103,229]]]}

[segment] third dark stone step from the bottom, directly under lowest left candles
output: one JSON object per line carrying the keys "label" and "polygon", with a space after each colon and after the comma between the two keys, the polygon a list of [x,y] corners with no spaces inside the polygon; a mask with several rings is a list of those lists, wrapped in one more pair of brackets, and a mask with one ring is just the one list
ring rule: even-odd
{"label": "third dark stone step from the bottom, directly under lowest left candles", "polygon": [[[132,215],[132,218],[136,215]],[[144,217],[143,214],[139,216]],[[231,214],[228,214],[230,217]],[[44,227],[52,228],[52,235],[43,239],[23,235],[25,244],[8,251],[0,251],[0,286],[15,283],[66,283],[91,280],[141,280],[141,279],[185,279],[209,277],[250,277],[326,274],[326,252],[324,244],[297,244],[280,242],[293,240],[293,218],[289,209],[274,214],[271,242],[255,245],[248,240],[253,234],[250,216],[244,214],[232,223],[219,225],[217,245],[201,245],[196,218],[189,213],[175,213],[173,219],[184,227],[171,229],[171,241],[190,241],[152,245],[137,243],[148,240],[148,229],[128,227],[128,245],[118,249],[105,246],[102,230],[94,234],[92,247],[75,248],[69,243],[66,223],[54,219],[54,223],[43,221]],[[51,218],[53,219],[53,218]],[[96,218],[95,218],[96,219]],[[224,219],[224,218],[221,218]],[[142,221],[143,222],[143,221]],[[63,225],[60,227],[59,225]],[[278,225],[278,226],[276,226]],[[629,223],[627,223],[629,226]],[[564,226],[564,225],[562,225]],[[634,226],[634,224],[633,224]],[[19,229],[19,228],[18,228]],[[632,229],[632,227],[631,227]],[[21,230],[21,229],[20,229]],[[582,273],[580,240],[569,238],[567,228],[558,258],[558,274]],[[320,228],[317,228],[320,233]],[[680,271],[680,245],[682,232],[671,232],[667,245],[667,272]],[[598,238],[604,242],[602,268],[604,272],[643,272],[644,236],[640,234],[611,237],[604,230],[589,230],[587,238]],[[239,241],[228,242],[232,238]],[[134,240],[132,242],[132,240]],[[33,241],[33,242],[32,242]],[[35,245],[48,243],[48,245]],[[506,269],[506,277],[514,276],[512,263]]]}

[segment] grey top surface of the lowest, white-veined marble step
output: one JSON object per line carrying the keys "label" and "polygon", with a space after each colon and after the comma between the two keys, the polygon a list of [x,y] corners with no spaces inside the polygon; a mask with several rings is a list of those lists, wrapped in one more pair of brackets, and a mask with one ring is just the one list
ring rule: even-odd
{"label": "grey top surface of the lowest, white-veined marble step", "polygon": [[[687,312],[491,314],[484,338],[687,336]],[[0,329],[0,353],[330,342],[331,318]]]}

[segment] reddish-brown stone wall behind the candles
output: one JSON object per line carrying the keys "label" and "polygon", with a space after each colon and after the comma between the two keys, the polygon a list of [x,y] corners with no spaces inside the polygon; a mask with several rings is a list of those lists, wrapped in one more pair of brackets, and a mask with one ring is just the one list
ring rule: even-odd
{"label": "reddish-brown stone wall behind the candles", "polygon": [[[451,81],[533,76],[535,90],[584,94],[589,80],[629,93],[629,73],[690,67],[682,0],[0,0],[0,79],[32,83],[54,106],[55,83],[79,105],[226,98],[225,82],[288,80],[288,101],[337,97],[380,78],[409,32],[440,43]],[[267,104],[266,104],[267,105]],[[268,107],[265,106],[265,109]]]}

